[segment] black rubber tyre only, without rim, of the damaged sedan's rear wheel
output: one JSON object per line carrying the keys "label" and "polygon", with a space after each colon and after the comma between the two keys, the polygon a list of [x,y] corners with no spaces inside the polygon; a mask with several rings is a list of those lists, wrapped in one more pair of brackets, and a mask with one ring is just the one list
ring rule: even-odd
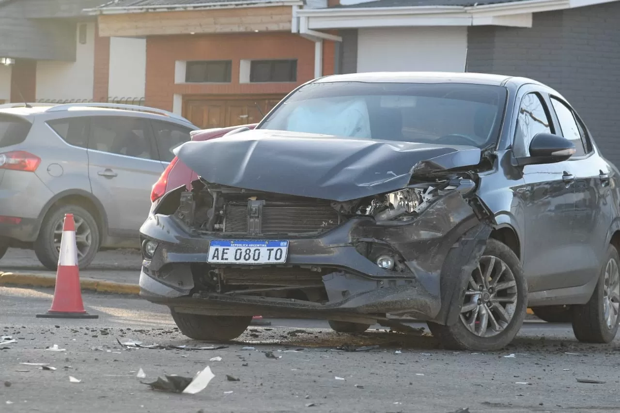
{"label": "black rubber tyre only, without rim, of the damaged sedan's rear wheel", "polygon": [[616,321],[611,323],[611,327],[608,327],[604,310],[605,273],[609,262],[612,260],[615,261],[616,269],[620,268],[618,251],[613,246],[609,246],[590,301],[586,304],[572,306],[573,332],[580,342],[609,343],[613,341],[618,332],[620,317],[616,316]]}

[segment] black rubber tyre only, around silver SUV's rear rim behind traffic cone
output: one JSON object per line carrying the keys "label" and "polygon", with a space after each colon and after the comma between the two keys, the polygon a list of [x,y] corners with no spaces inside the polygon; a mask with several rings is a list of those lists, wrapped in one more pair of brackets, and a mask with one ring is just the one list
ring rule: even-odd
{"label": "black rubber tyre only, around silver SUV's rear rim behind traffic cone", "polygon": [[[78,265],[80,269],[88,267],[92,260],[95,258],[97,251],[99,251],[99,226],[97,221],[91,213],[78,205],[60,205],[59,207],[53,207],[48,211],[47,215],[43,219],[41,229],[37,240],[34,242],[35,254],[38,260],[47,269],[55,271],[58,266],[58,250],[54,244],[54,231],[58,226],[58,223],[62,223],[64,214],[73,214],[76,223],[79,220],[83,220],[90,230],[90,247],[84,248],[84,254],[79,256]],[[84,227],[85,228],[85,227]],[[76,235],[81,231],[81,227],[76,227]]]}

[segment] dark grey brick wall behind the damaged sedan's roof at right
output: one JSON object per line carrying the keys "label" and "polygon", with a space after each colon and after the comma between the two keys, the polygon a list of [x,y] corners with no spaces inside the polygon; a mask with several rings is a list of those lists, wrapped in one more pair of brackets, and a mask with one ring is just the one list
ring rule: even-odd
{"label": "dark grey brick wall behind the damaged sedan's roof at right", "polygon": [[525,76],[557,89],[620,166],[620,2],[534,14],[533,27],[470,27],[467,71]]}

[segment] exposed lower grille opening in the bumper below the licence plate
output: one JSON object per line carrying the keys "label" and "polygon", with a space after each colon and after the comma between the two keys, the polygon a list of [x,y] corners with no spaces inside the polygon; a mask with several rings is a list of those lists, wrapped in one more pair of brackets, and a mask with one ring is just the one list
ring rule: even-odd
{"label": "exposed lower grille opening in the bumper below the licence plate", "polygon": [[322,285],[321,277],[325,273],[299,267],[230,267],[224,269],[224,282],[233,285]]}

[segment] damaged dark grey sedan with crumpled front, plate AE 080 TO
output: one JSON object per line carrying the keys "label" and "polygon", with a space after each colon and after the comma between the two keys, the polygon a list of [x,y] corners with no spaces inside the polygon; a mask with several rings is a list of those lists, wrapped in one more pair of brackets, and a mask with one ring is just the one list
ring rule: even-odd
{"label": "damaged dark grey sedan with crumpled front, plate AE 080 TO", "polygon": [[528,305],[568,308],[579,340],[616,335],[618,170],[558,92],[327,76],[246,129],[177,148],[200,179],[141,228],[141,296],[188,337],[234,339],[252,314],[339,332],[404,330],[397,316],[447,348],[497,350]]}

